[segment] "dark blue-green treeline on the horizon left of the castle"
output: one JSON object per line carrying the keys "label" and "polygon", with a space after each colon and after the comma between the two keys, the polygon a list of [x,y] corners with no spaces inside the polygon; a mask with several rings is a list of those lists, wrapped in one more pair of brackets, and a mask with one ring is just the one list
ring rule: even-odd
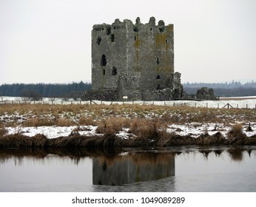
{"label": "dark blue-green treeline on the horizon left of the castle", "polygon": [[2,84],[0,96],[20,96],[33,98],[78,98],[91,84],[73,82],[72,84]]}

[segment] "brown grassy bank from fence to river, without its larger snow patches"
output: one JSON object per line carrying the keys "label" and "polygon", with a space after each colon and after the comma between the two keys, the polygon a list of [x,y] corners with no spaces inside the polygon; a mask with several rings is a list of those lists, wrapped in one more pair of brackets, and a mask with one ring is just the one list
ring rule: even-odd
{"label": "brown grassy bank from fence to river, without its larger snow patches", "polygon": [[[188,106],[145,105],[33,105],[4,104],[0,107],[0,147],[91,147],[91,146],[178,146],[212,144],[256,144],[256,136],[246,136],[245,127],[256,122],[255,109],[208,109]],[[174,124],[193,127],[215,123],[215,131],[207,129],[197,138],[168,132]],[[229,127],[226,137],[221,128]],[[32,138],[16,132],[7,135],[7,127],[76,126],[67,137],[47,139],[44,135]],[[97,135],[80,135],[80,126],[98,126]],[[128,138],[117,136],[126,129]],[[181,129],[180,129],[181,130]]]}

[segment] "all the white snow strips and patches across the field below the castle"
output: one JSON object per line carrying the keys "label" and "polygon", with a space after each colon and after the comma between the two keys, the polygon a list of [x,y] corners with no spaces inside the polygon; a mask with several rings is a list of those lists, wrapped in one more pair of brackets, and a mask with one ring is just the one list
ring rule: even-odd
{"label": "all the white snow strips and patches across the field below the castle", "polygon": [[[0,101],[5,101],[13,103],[17,102],[21,99],[19,98],[10,98],[10,97],[0,97]],[[39,103],[38,101],[36,103]],[[71,101],[62,101],[61,99],[56,99],[53,101],[53,103],[48,99],[44,98],[44,104],[70,104]],[[73,101],[73,104],[89,104],[88,101]],[[97,104],[123,104],[123,102],[110,102],[110,101],[95,101]],[[234,108],[249,108],[249,109],[255,109],[256,105],[256,97],[250,97],[249,99],[241,99],[241,100],[228,100],[228,101],[134,101],[134,102],[124,102],[125,104],[145,104],[145,105],[165,105],[165,106],[192,106],[192,107],[208,107],[208,108],[222,108],[226,104],[230,104]],[[34,104],[34,102],[31,102],[31,104]],[[1,107],[1,104],[0,104]],[[227,110],[228,111],[228,110]],[[134,112],[132,112],[134,113]],[[163,114],[164,115],[164,114]],[[177,114],[179,115],[179,114]],[[65,117],[67,114],[59,114],[59,117],[61,116]],[[73,119],[75,123],[78,122],[78,119],[81,116],[87,116],[92,117],[92,114],[90,112],[85,111],[84,114],[75,114],[70,115],[70,118]],[[133,118],[138,117],[136,114],[132,114]],[[145,118],[155,118],[157,114],[154,114],[154,112],[147,112],[147,114],[144,114]],[[227,115],[223,115],[225,117]],[[129,117],[126,114],[126,117]],[[223,119],[221,116],[220,118]],[[100,135],[96,133],[96,129],[98,126],[22,126],[22,123],[26,121],[27,119],[31,118],[38,118],[36,115],[33,115],[33,113],[27,113],[20,115],[18,112],[14,112],[11,115],[8,115],[7,113],[0,115],[0,123],[12,123],[15,122],[15,126],[8,126],[5,127],[7,130],[7,135],[13,135],[16,133],[21,133],[23,135],[27,135],[30,137],[33,137],[37,134],[44,134],[47,136],[47,138],[58,138],[58,137],[66,137],[73,132],[79,133],[80,135],[86,135],[86,136],[94,136],[94,135]],[[47,115],[41,115],[39,118],[49,118],[53,119],[53,115],[47,114]],[[105,117],[106,118],[106,117]],[[76,119],[76,120],[75,120]],[[197,138],[198,136],[205,134],[208,132],[209,135],[213,135],[216,132],[221,132],[224,136],[227,135],[227,133],[230,131],[231,127],[235,123],[239,123],[239,121],[236,121],[236,118],[232,118],[234,121],[232,123],[209,123],[208,122],[191,122],[189,121],[187,123],[174,123],[169,124],[166,127],[166,132],[169,133],[175,133],[176,135],[190,135],[192,137]],[[230,118],[229,118],[230,120]],[[240,123],[243,126],[243,133],[247,135],[247,137],[251,137],[253,135],[256,135],[256,117],[250,118],[250,120],[247,121],[240,121]],[[251,126],[252,132],[247,132],[248,126]],[[18,126],[17,126],[18,125]],[[118,132],[117,135],[120,138],[131,138],[132,135],[129,132],[129,129],[124,128],[122,131]]]}

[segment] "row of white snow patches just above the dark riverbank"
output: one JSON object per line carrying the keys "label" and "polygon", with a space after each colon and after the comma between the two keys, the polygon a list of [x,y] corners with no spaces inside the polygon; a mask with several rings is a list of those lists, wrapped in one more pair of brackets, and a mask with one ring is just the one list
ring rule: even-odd
{"label": "row of white snow patches just above the dark riverbank", "polygon": [[[246,126],[243,126],[243,133],[247,137],[256,135],[256,122],[250,123],[252,127],[252,132],[247,132]],[[47,138],[58,138],[58,137],[67,137],[73,132],[79,133],[80,135],[85,136],[94,136],[101,135],[96,133],[98,126],[38,126],[38,127],[7,127],[7,135],[14,135],[16,133],[21,133],[29,137],[33,137],[37,134],[43,134]],[[224,137],[230,131],[231,127],[223,123],[186,123],[186,124],[172,124],[169,125],[166,129],[166,132],[175,133],[176,135],[186,136],[190,135],[194,138],[198,138],[200,135],[205,134],[206,132],[209,135],[214,135],[216,132],[220,132]],[[120,138],[131,138],[134,135],[129,133],[129,129],[125,128],[123,131],[118,132],[117,134]]]}

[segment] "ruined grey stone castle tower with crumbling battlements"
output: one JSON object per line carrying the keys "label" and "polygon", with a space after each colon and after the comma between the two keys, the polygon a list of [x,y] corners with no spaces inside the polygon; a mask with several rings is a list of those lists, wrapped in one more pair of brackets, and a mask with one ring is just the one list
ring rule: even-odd
{"label": "ruined grey stone castle tower with crumbling battlements", "polygon": [[168,101],[184,96],[174,69],[173,24],[115,19],[92,28],[92,90],[85,100]]}

